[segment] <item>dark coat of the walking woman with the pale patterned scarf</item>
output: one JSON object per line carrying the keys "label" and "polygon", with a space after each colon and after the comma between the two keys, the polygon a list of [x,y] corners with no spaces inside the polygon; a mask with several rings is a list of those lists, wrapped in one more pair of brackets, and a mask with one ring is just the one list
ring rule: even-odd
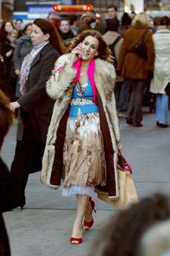
{"label": "dark coat of the walking woman with the pale patterned scarf", "polygon": [[[56,59],[61,54],[48,43],[32,61],[27,80],[27,93],[19,98],[18,103],[30,116],[35,139],[46,141],[50,119],[53,113],[54,101],[46,93],[46,82],[51,75]],[[24,126],[22,115],[19,114],[17,140],[22,141]]]}

